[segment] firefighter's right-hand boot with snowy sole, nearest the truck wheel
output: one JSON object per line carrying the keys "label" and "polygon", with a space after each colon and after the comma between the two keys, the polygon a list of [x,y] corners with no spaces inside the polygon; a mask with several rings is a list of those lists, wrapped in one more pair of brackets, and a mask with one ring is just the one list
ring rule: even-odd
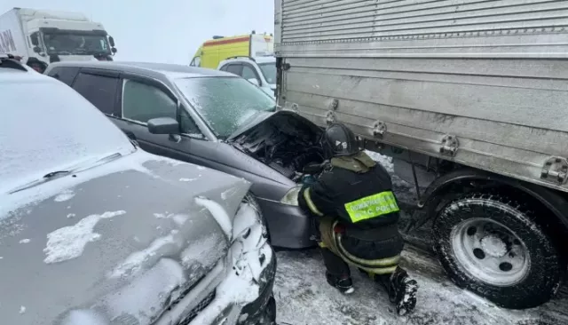
{"label": "firefighter's right-hand boot with snowy sole, nearest the truck wheel", "polygon": [[418,283],[410,279],[400,266],[390,276],[383,276],[382,280],[389,293],[390,302],[397,306],[398,315],[412,312],[416,306]]}

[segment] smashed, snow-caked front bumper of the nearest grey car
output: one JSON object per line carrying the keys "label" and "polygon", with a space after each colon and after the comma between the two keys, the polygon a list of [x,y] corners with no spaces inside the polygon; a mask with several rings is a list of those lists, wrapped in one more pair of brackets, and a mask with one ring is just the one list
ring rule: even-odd
{"label": "smashed, snow-caked front bumper of the nearest grey car", "polygon": [[264,226],[259,218],[254,222],[245,220],[236,232],[227,256],[162,314],[156,325],[275,323],[272,288],[276,255],[267,242]]}

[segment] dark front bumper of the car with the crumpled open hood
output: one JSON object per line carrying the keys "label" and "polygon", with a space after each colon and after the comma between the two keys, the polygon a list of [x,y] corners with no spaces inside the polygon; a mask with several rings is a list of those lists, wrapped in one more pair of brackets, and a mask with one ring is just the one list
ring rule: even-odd
{"label": "dark front bumper of the car with the crumpled open hood", "polygon": [[272,246],[287,249],[307,249],[312,241],[312,221],[300,207],[261,198],[256,199],[263,210]]}

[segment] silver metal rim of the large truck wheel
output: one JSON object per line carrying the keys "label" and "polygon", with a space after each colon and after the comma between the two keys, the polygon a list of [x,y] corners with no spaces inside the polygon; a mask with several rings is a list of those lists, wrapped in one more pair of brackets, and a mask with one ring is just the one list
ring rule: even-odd
{"label": "silver metal rim of the large truck wheel", "polygon": [[530,269],[525,243],[507,226],[489,218],[470,218],[454,226],[452,248],[462,268],[479,281],[508,287]]}

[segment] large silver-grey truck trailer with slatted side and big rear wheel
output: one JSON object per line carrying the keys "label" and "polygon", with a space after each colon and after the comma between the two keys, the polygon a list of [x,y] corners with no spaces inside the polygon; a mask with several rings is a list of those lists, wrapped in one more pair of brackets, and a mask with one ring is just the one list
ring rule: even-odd
{"label": "large silver-grey truck trailer with slatted side and big rear wheel", "polygon": [[566,271],[568,1],[275,0],[280,107],[346,123],[416,185],[462,288],[547,302]]}

